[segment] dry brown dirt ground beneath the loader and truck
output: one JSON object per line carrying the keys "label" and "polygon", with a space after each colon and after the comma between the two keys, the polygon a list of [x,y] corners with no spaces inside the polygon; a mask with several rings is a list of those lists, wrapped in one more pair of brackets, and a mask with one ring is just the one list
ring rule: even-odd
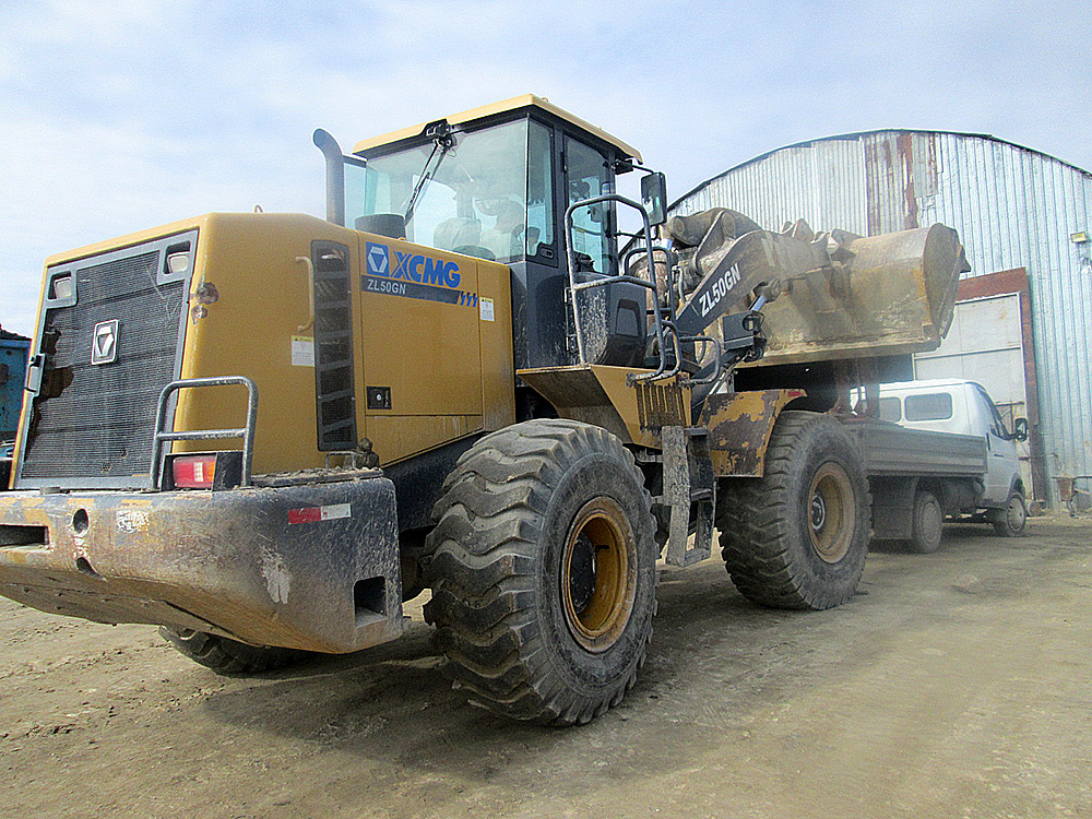
{"label": "dry brown dirt ground beneath the loader and truck", "polygon": [[1030,532],[875,550],[815,614],[667,569],[637,687],[571,729],[467,707],[423,624],[226,679],[2,600],[0,816],[1092,816],[1092,521]]}

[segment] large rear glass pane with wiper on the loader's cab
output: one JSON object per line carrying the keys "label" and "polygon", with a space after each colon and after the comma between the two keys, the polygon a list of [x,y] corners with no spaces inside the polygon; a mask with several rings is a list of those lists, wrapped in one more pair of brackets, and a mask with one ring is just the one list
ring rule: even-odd
{"label": "large rear glass pane with wiper on the loader's cab", "polygon": [[498,261],[534,256],[554,241],[549,136],[524,119],[455,133],[447,151],[428,142],[366,167],[346,163],[346,224],[397,213],[418,245]]}

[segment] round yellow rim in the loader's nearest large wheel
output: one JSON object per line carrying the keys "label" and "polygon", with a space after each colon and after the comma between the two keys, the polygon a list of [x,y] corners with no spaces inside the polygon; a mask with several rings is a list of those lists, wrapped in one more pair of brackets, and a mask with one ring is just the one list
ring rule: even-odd
{"label": "round yellow rim in the loader's nearest large wheel", "polygon": [[637,596],[637,542],[610,498],[585,503],[569,527],[561,557],[561,600],[569,631],[598,653],[614,645]]}

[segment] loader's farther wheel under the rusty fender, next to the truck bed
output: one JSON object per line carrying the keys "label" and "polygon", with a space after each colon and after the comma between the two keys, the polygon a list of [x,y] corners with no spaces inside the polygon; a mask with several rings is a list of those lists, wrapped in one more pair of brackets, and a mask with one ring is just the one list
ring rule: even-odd
{"label": "loader's farther wheel under the rusty fender, next to the truck bed", "polygon": [[787,411],[761,478],[722,482],[725,567],[748,600],[822,609],[853,596],[868,555],[869,496],[859,449],[826,415]]}

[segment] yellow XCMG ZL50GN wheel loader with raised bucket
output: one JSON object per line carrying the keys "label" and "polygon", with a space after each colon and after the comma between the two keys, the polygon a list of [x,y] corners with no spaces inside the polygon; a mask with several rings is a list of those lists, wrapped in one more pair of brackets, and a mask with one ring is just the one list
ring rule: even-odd
{"label": "yellow XCMG ZL50GN wheel loader with raised bucket", "polygon": [[954,230],[668,219],[636,149],[532,95],[314,142],[325,219],[46,261],[0,594],[239,674],[393,640],[427,591],[458,688],[571,725],[634,685],[658,565],[717,530],[744,595],[821,609],[862,575],[870,480],[974,494],[973,440],[885,462],[899,432],[847,405],[939,344]]}

